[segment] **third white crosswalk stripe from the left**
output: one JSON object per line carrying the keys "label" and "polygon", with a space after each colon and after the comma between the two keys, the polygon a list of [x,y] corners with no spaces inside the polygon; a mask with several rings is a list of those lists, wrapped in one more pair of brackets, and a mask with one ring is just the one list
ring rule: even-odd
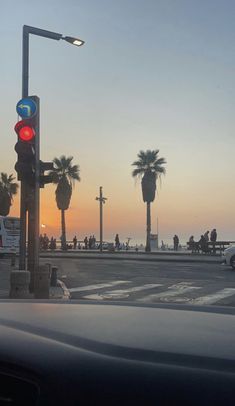
{"label": "third white crosswalk stripe from the left", "polygon": [[165,290],[164,292],[153,293],[152,295],[144,296],[143,298],[137,300],[139,302],[151,303],[154,302],[155,299],[160,299],[167,302],[169,298],[169,301],[172,302],[171,298],[173,296],[184,295],[185,293],[191,292],[192,290],[201,289],[201,287],[190,285],[190,282],[177,283],[176,285],[169,286],[168,290]]}

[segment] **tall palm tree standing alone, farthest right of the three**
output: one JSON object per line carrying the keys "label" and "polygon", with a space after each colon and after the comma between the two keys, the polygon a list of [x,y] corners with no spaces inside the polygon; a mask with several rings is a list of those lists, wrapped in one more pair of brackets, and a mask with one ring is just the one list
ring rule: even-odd
{"label": "tall palm tree standing alone, farthest right of the three", "polygon": [[140,151],[138,160],[133,162],[136,168],[132,172],[133,177],[141,178],[143,201],[147,203],[147,234],[145,251],[150,252],[150,233],[151,233],[151,211],[150,204],[155,199],[157,179],[165,174],[166,170],[162,166],[166,164],[165,158],[158,157],[159,150]]}

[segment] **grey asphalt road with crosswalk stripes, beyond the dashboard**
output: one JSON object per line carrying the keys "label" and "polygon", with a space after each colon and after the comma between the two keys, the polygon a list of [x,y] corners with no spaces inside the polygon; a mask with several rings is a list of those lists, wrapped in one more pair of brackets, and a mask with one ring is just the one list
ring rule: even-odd
{"label": "grey asphalt road with crosswalk stripes, beyond the dashboard", "polygon": [[219,263],[53,258],[53,265],[72,299],[235,306],[235,272]]}

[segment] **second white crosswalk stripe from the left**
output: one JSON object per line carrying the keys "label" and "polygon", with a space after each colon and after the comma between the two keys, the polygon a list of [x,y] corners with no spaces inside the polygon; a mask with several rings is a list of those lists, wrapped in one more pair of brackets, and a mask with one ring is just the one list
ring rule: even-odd
{"label": "second white crosswalk stripe from the left", "polygon": [[105,299],[124,299],[130,296],[130,293],[140,292],[146,289],[153,289],[158,286],[162,286],[161,283],[149,283],[147,285],[135,286],[129,289],[117,289],[111,290],[99,294],[87,295],[83,299],[92,299],[92,300],[105,300]]}

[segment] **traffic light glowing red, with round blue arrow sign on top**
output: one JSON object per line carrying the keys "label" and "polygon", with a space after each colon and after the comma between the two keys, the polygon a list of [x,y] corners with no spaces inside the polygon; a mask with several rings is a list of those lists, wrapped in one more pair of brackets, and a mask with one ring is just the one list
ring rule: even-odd
{"label": "traffic light glowing red, with round blue arrow sign on top", "polygon": [[17,103],[17,112],[23,118],[15,125],[18,141],[15,151],[18,161],[15,165],[17,178],[32,186],[36,181],[36,167],[39,157],[39,98],[31,96]]}

